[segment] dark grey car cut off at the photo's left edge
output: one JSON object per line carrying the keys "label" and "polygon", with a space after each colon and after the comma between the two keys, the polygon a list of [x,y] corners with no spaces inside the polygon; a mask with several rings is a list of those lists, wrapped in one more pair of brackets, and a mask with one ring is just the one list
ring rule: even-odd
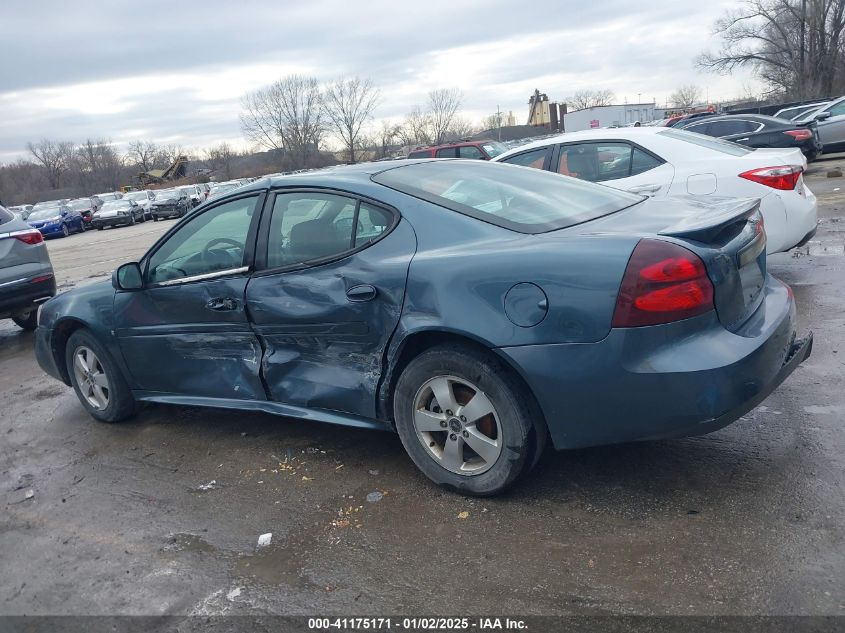
{"label": "dark grey car cut off at the photo's left edge", "polygon": [[56,294],[44,237],[0,207],[0,319],[25,330],[38,325],[38,306]]}

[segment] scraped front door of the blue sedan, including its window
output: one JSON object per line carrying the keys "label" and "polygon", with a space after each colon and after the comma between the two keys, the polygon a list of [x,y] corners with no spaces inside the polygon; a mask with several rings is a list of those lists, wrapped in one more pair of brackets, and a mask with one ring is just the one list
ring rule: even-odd
{"label": "scraped front door of the blue sedan, including its window", "polygon": [[141,262],[142,290],[118,291],[116,335],[140,391],[266,400],[244,292],[264,195],[191,217]]}

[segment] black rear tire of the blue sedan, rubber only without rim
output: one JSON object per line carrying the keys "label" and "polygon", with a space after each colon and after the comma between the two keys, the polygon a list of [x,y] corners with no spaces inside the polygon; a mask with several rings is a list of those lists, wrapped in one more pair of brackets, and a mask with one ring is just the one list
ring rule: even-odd
{"label": "black rear tire of the blue sedan, rubber only without rim", "polygon": [[[492,466],[479,474],[458,474],[444,468],[417,434],[417,392],[438,376],[454,376],[477,386],[496,411],[502,434],[501,453]],[[513,484],[542,453],[545,428],[542,420],[537,420],[533,402],[510,368],[492,354],[472,347],[444,345],[423,352],[402,372],[394,393],[393,414],[405,450],[429,479],[463,494],[489,496]],[[543,434],[538,439],[536,429],[541,426]]]}

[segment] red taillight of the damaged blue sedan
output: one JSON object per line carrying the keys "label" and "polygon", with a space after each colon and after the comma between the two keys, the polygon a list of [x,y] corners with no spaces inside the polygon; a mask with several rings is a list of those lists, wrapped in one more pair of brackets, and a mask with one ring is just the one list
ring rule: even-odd
{"label": "red taillight of the damaged blue sedan", "polygon": [[692,251],[662,240],[640,240],[622,279],[613,327],[658,325],[713,309],[713,284]]}

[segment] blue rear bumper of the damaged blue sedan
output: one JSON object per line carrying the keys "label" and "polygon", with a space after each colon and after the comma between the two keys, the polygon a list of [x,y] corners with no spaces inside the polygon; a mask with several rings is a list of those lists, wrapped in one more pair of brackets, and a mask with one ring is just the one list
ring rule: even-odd
{"label": "blue rear bumper of the damaged blue sedan", "polygon": [[754,408],[809,355],[795,303],[769,276],[760,308],[736,333],[715,313],[611,330],[598,343],[500,348],[525,378],[555,447],[709,433]]}

